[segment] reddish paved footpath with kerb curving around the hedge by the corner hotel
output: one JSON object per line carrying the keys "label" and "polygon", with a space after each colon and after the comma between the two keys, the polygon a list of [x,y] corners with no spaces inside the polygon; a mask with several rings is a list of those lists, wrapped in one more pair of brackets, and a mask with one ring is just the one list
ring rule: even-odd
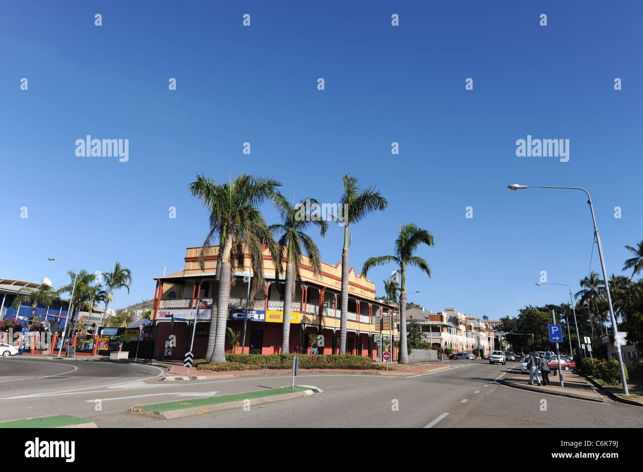
{"label": "reddish paved footpath with kerb curving around the hedge by the corner hotel", "polygon": [[[239,378],[247,376],[272,376],[278,375],[283,376],[289,374],[290,369],[260,369],[254,371],[230,371],[230,372],[210,372],[210,371],[199,371],[195,367],[190,367],[190,373],[188,374],[188,368],[183,366],[183,362],[180,361],[163,361],[163,362],[154,362],[153,365],[158,365],[159,367],[167,367],[168,373],[163,376],[160,380],[163,381],[183,381],[183,380],[206,380],[212,378]],[[428,374],[430,372],[442,371],[444,369],[449,369],[448,364],[441,363],[424,363],[424,364],[406,364],[401,365],[397,362],[389,362],[389,367],[394,367],[395,370],[390,371],[380,371],[376,369],[299,369],[299,374],[306,374],[312,372],[332,372],[333,374],[363,374],[363,375],[381,375],[381,376],[397,376],[397,377],[406,377],[418,374]]]}

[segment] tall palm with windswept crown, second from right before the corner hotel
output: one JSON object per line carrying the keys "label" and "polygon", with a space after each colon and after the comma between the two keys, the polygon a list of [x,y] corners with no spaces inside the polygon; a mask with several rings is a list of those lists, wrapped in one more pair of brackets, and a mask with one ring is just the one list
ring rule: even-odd
{"label": "tall palm with windswept crown, second from right before the corner hotel", "polygon": [[346,174],[341,181],[343,195],[338,210],[341,216],[336,218],[344,226],[344,247],[341,252],[341,321],[340,321],[340,354],[346,354],[346,332],[349,319],[349,248],[352,233],[349,238],[350,223],[358,223],[372,211],[383,211],[388,206],[386,198],[382,197],[374,187],[368,187],[361,193],[358,189],[358,179]]}

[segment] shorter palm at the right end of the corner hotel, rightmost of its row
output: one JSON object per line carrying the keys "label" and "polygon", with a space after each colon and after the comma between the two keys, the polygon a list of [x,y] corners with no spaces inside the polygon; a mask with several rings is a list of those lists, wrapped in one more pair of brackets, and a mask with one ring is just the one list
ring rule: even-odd
{"label": "shorter palm at the right end of the corner hotel, rightmost of its row", "polygon": [[426,244],[429,247],[433,246],[433,235],[426,231],[426,229],[421,229],[413,223],[405,223],[400,227],[399,236],[397,236],[395,240],[395,256],[368,258],[362,268],[362,274],[366,277],[368,270],[377,265],[395,263],[399,267],[399,273],[401,275],[399,362],[403,364],[408,363],[408,351],[406,348],[406,267],[417,267],[431,278],[431,268],[426,260],[413,255],[421,244]]}

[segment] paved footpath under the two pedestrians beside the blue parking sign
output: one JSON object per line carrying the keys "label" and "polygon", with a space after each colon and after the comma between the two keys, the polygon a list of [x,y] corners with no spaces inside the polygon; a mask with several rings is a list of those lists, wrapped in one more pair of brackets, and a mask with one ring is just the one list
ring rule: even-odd
{"label": "paved footpath under the two pedestrians beside the blue parking sign", "polygon": [[599,393],[599,389],[594,387],[574,371],[563,371],[563,384],[565,387],[560,386],[560,377],[557,375],[554,376],[554,372],[549,374],[549,381],[552,385],[547,385],[547,387],[542,385],[539,387],[538,383],[536,383],[536,378],[534,378],[534,385],[529,385],[529,374],[522,374],[520,372],[520,367],[511,369],[511,371],[507,372],[507,374],[498,379],[498,381],[507,385],[507,387],[514,387],[516,389],[531,390],[532,392],[542,392],[583,400],[599,401],[601,403],[605,402],[605,397]]}

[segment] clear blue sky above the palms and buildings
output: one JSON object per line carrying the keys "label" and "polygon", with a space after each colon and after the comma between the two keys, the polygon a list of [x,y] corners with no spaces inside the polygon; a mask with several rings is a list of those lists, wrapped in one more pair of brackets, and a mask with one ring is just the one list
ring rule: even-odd
{"label": "clear blue sky above the palms and buildings", "polygon": [[[432,277],[408,275],[408,290],[421,290],[410,300],[427,310],[498,319],[567,301],[565,287],[534,285],[542,270],[579,290],[592,256],[584,194],[507,184],[588,189],[609,274],[621,274],[624,245],[643,238],[641,4],[27,1],[3,10],[0,277],[60,285],[66,267],[48,257],[91,272],[118,260],[134,283],[113,308],[152,298],[152,278],[181,270],[185,248],[208,232],[186,189],[197,173],[275,177],[289,198],[329,203],[345,173],[377,186],[389,207],[352,227],[350,264],[359,271],[390,254],[404,222],[428,229],[435,246],[419,255]],[[129,139],[129,161],[77,157],[75,141],[88,134]],[[527,135],[569,139],[569,161],[517,157]],[[341,259],[340,227],[316,241],[323,261]],[[600,272],[596,250],[591,268]],[[392,270],[368,278],[382,290]]]}

